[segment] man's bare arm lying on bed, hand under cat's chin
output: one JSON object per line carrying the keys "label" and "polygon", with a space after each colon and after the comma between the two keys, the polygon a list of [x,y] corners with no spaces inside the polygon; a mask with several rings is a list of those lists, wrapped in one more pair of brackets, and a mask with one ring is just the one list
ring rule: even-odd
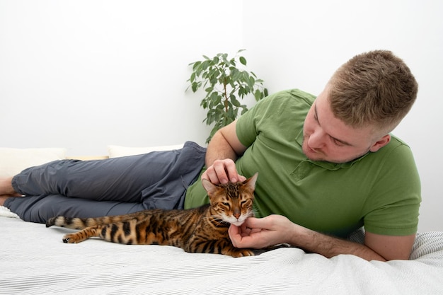
{"label": "man's bare arm lying on bed, hand under cat's chin", "polygon": [[408,259],[415,239],[415,235],[381,236],[366,233],[362,245],[311,231],[281,215],[270,215],[263,219],[249,218],[241,227],[231,225],[229,236],[237,248],[264,248],[288,243],[327,258],[352,254],[366,260],[381,261]]}

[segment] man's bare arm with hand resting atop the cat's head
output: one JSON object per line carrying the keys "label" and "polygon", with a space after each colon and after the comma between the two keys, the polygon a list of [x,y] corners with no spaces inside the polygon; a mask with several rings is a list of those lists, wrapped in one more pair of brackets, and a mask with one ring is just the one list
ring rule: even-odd
{"label": "man's bare arm with hand resting atop the cat's head", "polygon": [[238,175],[235,165],[236,159],[244,151],[246,146],[241,144],[236,134],[236,121],[219,129],[207,146],[207,170],[202,178],[215,184],[246,180],[243,175]]}

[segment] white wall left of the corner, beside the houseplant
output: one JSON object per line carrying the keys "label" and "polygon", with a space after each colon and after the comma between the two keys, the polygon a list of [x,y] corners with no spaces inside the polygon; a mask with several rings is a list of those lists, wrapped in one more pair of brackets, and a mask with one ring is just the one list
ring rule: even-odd
{"label": "white wall left of the corner, beside the houseplant", "polygon": [[0,146],[205,144],[188,64],[239,49],[236,3],[0,0]]}

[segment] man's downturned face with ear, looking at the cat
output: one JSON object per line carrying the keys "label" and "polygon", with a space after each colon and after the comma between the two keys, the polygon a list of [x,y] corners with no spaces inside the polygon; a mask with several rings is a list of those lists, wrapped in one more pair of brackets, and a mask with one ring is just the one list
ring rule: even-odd
{"label": "man's downturned face with ear, looking at the cat", "polygon": [[323,91],[314,101],[306,115],[303,128],[303,152],[313,161],[345,163],[363,156],[368,151],[378,151],[391,139],[372,138],[372,129],[355,129],[337,119],[328,100],[328,91]]}

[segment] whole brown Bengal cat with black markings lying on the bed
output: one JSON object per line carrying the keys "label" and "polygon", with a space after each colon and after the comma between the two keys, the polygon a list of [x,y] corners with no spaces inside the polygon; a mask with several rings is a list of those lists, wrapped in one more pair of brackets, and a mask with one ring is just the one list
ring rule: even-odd
{"label": "whole brown Bengal cat with black markings lying on the bed", "polygon": [[134,245],[173,245],[190,253],[217,253],[233,257],[254,255],[239,249],[229,239],[229,224],[240,226],[253,216],[253,198],[258,173],[243,182],[214,185],[203,180],[210,204],[195,209],[149,209],[132,214],[98,218],[55,216],[46,227],[81,229],[63,237],[64,243],[80,243],[87,238]]}

